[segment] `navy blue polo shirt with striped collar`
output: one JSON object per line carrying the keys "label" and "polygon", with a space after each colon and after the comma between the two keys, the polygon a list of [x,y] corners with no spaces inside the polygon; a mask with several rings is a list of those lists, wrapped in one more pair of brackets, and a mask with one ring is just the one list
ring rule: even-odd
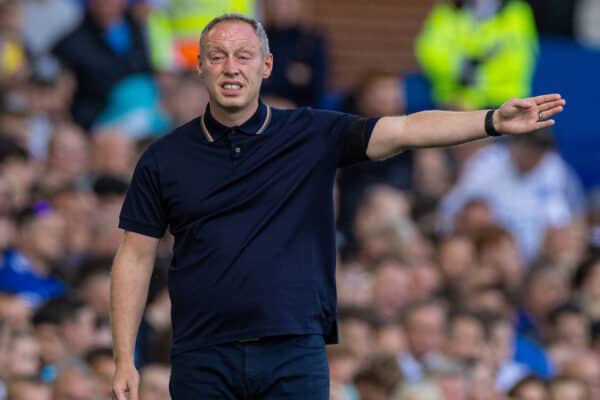
{"label": "navy blue polo shirt with striped collar", "polygon": [[125,230],[175,237],[173,354],[255,337],[337,341],[336,168],[367,160],[376,118],[260,102],[239,127],[210,110],[152,143]]}

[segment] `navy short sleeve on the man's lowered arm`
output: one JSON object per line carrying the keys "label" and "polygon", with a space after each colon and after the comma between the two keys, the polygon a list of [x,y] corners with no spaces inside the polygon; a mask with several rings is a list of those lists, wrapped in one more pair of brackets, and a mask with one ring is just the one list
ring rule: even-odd
{"label": "navy short sleeve on the man's lowered arm", "polygon": [[119,228],[160,238],[167,227],[156,158],[149,148],[138,161],[119,217]]}

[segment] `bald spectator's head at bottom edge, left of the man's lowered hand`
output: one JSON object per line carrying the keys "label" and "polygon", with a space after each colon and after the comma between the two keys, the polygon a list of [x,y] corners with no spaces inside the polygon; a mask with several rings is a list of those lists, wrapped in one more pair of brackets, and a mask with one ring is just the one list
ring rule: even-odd
{"label": "bald spectator's head at bottom edge, left of the man's lowered hand", "polygon": [[96,394],[94,377],[85,369],[77,367],[60,373],[52,387],[52,400],[92,400]]}

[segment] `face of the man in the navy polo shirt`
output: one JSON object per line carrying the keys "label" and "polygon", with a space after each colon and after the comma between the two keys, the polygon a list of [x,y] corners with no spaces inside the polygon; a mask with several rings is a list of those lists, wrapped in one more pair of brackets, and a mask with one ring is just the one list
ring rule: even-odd
{"label": "face of the man in the navy polo shirt", "polygon": [[273,56],[264,54],[260,39],[245,22],[221,22],[206,35],[198,71],[211,107],[240,112],[258,101],[260,85],[271,74]]}

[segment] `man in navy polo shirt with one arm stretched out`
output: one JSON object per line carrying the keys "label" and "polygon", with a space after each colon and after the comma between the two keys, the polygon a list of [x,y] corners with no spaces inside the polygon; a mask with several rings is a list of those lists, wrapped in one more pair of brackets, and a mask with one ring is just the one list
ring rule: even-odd
{"label": "man in navy polo shirt with one arm stretched out", "polygon": [[564,100],[381,119],[278,110],[259,99],[273,56],[258,22],[219,17],[202,32],[200,49],[209,105],[143,154],[121,212],[114,394],[138,398],[136,331],[168,227],[173,398],[328,399],[324,345],[337,340],[336,168],[486,131],[526,133],[552,125]]}

